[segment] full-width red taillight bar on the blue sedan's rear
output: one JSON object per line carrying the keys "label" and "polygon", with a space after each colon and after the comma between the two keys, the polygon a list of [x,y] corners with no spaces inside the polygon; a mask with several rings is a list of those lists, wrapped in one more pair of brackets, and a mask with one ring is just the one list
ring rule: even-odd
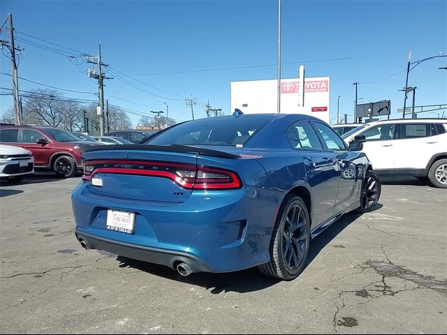
{"label": "full-width red taillight bar on the blue sedan's rear", "polygon": [[86,161],[82,179],[89,181],[96,173],[133,174],[162,177],[188,190],[233,190],[242,188],[237,174],[219,168],[192,164],[147,161]]}

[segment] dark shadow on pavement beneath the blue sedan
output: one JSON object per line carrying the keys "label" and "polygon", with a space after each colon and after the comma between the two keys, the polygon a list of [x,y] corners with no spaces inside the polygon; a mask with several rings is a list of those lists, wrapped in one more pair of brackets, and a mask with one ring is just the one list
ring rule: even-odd
{"label": "dark shadow on pavement beneath the blue sedan", "polygon": [[[381,207],[383,207],[383,205],[377,204],[374,211],[380,209]],[[305,268],[316,258],[318,253],[320,253],[326,245],[330,244],[332,239],[337,237],[337,235],[342,232],[344,228],[348,227],[360,216],[361,214],[346,214],[319,234],[318,237],[313,239],[309,247]],[[200,272],[184,277],[178,274],[177,271],[162,265],[142,262],[140,260],[132,260],[123,256],[117,256],[117,260],[120,262],[119,267],[130,267],[173,281],[180,281],[191,285],[199,285],[206,288],[206,290],[210,290],[210,292],[214,295],[219,295],[221,292],[256,292],[269,288],[270,286],[280,282],[277,279],[263,276],[256,267],[226,274],[210,274]]]}

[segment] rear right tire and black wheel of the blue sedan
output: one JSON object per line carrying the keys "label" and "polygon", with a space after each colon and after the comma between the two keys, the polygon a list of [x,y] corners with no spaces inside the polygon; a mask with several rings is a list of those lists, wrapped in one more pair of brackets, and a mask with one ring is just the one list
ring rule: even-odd
{"label": "rear right tire and black wheel of the blue sedan", "polygon": [[305,267],[310,237],[309,211],[305,202],[298,195],[288,195],[274,224],[270,262],[258,269],[265,276],[284,281],[295,279]]}

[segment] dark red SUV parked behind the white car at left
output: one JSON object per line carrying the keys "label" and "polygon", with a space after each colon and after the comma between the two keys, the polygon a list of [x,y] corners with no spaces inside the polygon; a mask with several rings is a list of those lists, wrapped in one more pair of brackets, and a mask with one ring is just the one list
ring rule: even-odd
{"label": "dark red SUV parked behind the white car at left", "polygon": [[31,151],[36,169],[53,170],[66,178],[82,171],[80,147],[97,145],[58,128],[4,124],[0,125],[0,142]]}

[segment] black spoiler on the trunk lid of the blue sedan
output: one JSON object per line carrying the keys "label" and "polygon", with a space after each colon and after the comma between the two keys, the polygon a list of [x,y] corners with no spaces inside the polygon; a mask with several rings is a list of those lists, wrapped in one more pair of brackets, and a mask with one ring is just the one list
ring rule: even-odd
{"label": "black spoiler on the trunk lid of the blue sedan", "polygon": [[199,154],[203,156],[212,156],[220,158],[240,158],[239,155],[228,154],[225,151],[212,150],[206,148],[190,147],[189,145],[147,145],[147,144],[112,144],[112,145],[85,145],[79,148],[82,154],[89,151],[107,151],[107,150],[145,150],[145,151],[169,151],[180,152],[184,154]]}

